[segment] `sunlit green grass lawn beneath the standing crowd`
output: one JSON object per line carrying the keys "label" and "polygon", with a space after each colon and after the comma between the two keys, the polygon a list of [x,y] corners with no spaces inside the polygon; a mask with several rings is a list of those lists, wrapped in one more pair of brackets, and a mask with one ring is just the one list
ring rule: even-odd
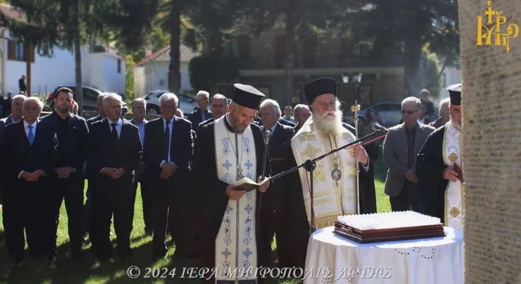
{"label": "sunlit green grass lawn beneath the standing crowd", "polygon": [[[375,165],[376,202],[378,212],[390,211],[389,197],[383,193],[385,173],[387,169],[378,159]],[[138,189],[139,190],[139,189]],[[121,261],[117,257],[107,262],[96,261],[90,252],[90,245],[85,247],[83,262],[77,263],[66,255],[68,251],[67,216],[65,205],[60,211],[60,223],[58,228],[58,252],[56,261],[49,265],[47,261],[32,261],[26,251],[22,265],[11,267],[7,250],[4,244],[0,247],[0,283],[200,283],[198,278],[179,278],[184,267],[196,267],[200,264],[198,259],[179,259],[174,255],[172,242],[169,242],[167,259],[152,261],[152,237],[145,235],[140,193],[136,195],[134,210],[133,231],[131,235],[131,247],[133,257],[128,261]],[[0,216],[1,219],[1,216]],[[112,229],[114,231],[114,229]],[[112,235],[114,238],[115,235]],[[0,239],[4,239],[4,228],[0,225]],[[275,249],[275,244],[273,245]],[[114,252],[115,254],[115,252]],[[129,266],[138,266],[142,276],[131,279],[126,275]],[[160,268],[161,272],[172,271],[176,268],[176,278],[143,278],[145,268]],[[166,273],[165,273],[166,274]],[[299,283],[299,280],[272,280],[270,283]]]}

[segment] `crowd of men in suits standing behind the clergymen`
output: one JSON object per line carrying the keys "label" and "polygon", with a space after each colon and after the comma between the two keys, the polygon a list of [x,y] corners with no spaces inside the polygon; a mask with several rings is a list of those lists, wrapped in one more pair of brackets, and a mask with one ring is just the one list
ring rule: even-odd
{"label": "crowd of men in suits standing behind the clergymen", "polygon": [[[32,259],[54,259],[63,201],[73,259],[83,258],[85,231],[97,259],[104,261],[112,257],[112,220],[117,254],[121,259],[128,259],[138,183],[145,233],[152,235],[152,257],[164,257],[167,235],[172,235],[176,242],[176,252],[200,255],[202,247],[198,241],[205,232],[200,206],[204,206],[201,200],[205,197],[202,191],[193,188],[191,181],[204,177],[192,177],[196,160],[194,141],[203,125],[227,113],[230,101],[222,94],[215,94],[210,100],[210,94],[204,91],[198,92],[196,100],[198,107],[185,119],[179,113],[176,95],[163,94],[160,118],[147,121],[146,101],[138,98],[132,104],[133,118],[127,121],[121,118],[121,97],[115,94],[100,94],[97,98],[100,115],[88,120],[72,113],[73,93],[66,87],[56,91],[56,109],[42,118],[40,99],[24,95],[13,97],[11,115],[0,120],[0,159],[9,161],[1,165],[0,186],[6,246],[13,264],[23,261],[25,240]],[[406,111],[416,111],[421,103],[406,99],[402,106]],[[311,116],[305,104],[297,104],[294,109],[286,106],[283,111],[277,101],[265,99],[254,122],[272,133],[268,144],[271,175],[287,169],[291,139]],[[411,114],[405,115],[404,127],[416,129],[421,124],[417,124],[417,113]],[[429,126],[419,126],[414,141],[407,132],[408,144],[400,146],[408,145],[404,153],[417,154],[431,130]],[[390,155],[391,150],[386,151],[395,139],[396,143],[401,142],[392,137],[386,140],[385,162],[390,168],[398,163],[414,168],[415,161],[409,159],[410,155],[395,157]],[[402,153],[401,148],[395,151]],[[391,173],[393,171],[390,171],[389,183],[393,182]],[[405,193],[414,192],[414,176],[412,173],[403,175],[405,181],[397,178],[400,181],[396,183],[400,185],[393,185],[392,189],[390,186],[389,190],[387,184],[385,187],[393,210],[404,210],[412,202],[408,195],[392,191],[405,188]],[[88,188],[84,202],[85,180],[88,180]],[[279,264],[289,267],[294,262],[286,249],[292,240],[285,230],[288,221],[285,216],[292,200],[285,194],[287,191],[277,190],[282,185],[272,185],[273,190],[265,194],[260,209],[263,218],[258,240],[259,259],[261,264],[270,264],[270,246],[276,235]],[[374,187],[372,191],[374,200]],[[376,204],[369,207],[367,213],[376,212]]]}

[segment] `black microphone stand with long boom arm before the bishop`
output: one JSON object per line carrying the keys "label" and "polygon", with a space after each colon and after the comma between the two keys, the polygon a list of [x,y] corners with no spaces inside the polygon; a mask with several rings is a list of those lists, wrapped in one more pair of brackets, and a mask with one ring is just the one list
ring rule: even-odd
{"label": "black microphone stand with long boom arm before the bishop", "polygon": [[387,130],[387,129],[376,130],[376,131],[372,132],[369,135],[366,135],[366,136],[361,137],[361,138],[359,138],[357,140],[354,140],[353,142],[345,144],[344,146],[340,146],[340,147],[338,147],[336,149],[333,149],[333,150],[331,150],[328,153],[325,153],[325,154],[323,154],[321,156],[316,157],[315,159],[308,159],[308,160],[304,161],[304,163],[301,163],[298,166],[294,166],[293,168],[290,168],[287,171],[282,171],[282,172],[278,173],[277,175],[273,175],[273,177],[270,177],[270,182],[272,180],[277,180],[278,178],[282,178],[283,176],[285,176],[285,175],[287,175],[289,173],[293,173],[294,171],[297,171],[299,168],[304,168],[304,169],[306,169],[306,171],[309,172],[309,178],[311,180],[310,194],[309,194],[310,195],[310,201],[311,201],[311,233],[313,233],[313,232],[316,231],[315,211],[313,210],[313,207],[314,207],[313,206],[313,170],[315,170],[315,168],[316,168],[316,162],[320,161],[321,159],[324,159],[326,156],[329,156],[330,154],[339,152],[340,150],[345,149],[347,147],[350,147],[350,146],[352,146],[354,144],[357,144],[359,142],[364,142],[366,140],[372,140],[375,137],[386,135],[388,132],[389,132],[389,130]]}

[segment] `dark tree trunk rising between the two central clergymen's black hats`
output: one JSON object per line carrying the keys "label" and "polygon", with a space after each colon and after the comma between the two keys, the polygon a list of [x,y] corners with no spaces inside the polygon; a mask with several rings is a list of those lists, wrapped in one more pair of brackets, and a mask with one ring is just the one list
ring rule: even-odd
{"label": "dark tree trunk rising between the two central clergymen's black hats", "polygon": [[[293,69],[295,58],[295,0],[287,1],[286,8],[286,56],[284,59],[286,106],[292,104],[293,97]],[[284,107],[284,106],[282,106]]]}

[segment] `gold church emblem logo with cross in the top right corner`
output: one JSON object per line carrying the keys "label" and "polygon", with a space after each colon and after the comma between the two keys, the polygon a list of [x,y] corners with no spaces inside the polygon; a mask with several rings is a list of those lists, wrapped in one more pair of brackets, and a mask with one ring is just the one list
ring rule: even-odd
{"label": "gold church emblem logo with cross in the top right corner", "polygon": [[510,39],[515,39],[519,35],[519,26],[515,23],[506,25],[507,17],[503,15],[503,11],[493,11],[492,1],[487,1],[486,6],[489,8],[485,10],[485,23],[483,16],[477,16],[476,45],[492,45],[493,42],[493,45],[504,46],[508,53]]}

